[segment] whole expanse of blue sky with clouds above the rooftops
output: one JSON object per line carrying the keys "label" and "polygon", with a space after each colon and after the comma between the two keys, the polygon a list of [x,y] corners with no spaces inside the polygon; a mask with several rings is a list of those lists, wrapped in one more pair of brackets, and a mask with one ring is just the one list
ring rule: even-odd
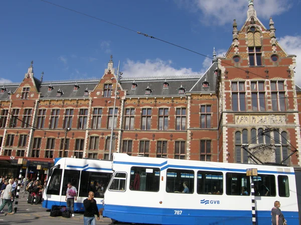
{"label": "whole expanse of blue sky with clouds above the rooftops", "polygon": [[[49,0],[212,56],[232,43],[232,22],[240,29],[248,0]],[[300,0],[254,0],[257,17],[301,67]],[[211,59],[138,35],[41,0],[1,2],[0,84],[20,82],[34,60],[44,80],[101,77],[110,54],[123,76],[167,76],[204,72]],[[299,58],[300,57],[300,58]],[[301,84],[300,68],[296,80]]]}

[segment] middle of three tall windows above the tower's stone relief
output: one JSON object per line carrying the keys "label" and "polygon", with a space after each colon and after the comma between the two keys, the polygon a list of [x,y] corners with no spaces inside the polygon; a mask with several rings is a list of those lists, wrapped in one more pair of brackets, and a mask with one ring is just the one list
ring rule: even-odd
{"label": "middle of three tall windows above the tower's stone relief", "polygon": [[265,111],[265,90],[264,82],[252,81],[251,82],[251,95],[252,95],[252,110]]}

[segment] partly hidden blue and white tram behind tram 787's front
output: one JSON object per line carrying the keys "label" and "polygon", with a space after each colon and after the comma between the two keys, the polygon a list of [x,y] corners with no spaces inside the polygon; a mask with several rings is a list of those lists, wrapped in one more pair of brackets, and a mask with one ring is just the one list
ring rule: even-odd
{"label": "partly hidden blue and white tram behind tram 787's front", "polygon": [[86,158],[56,158],[43,194],[42,206],[67,205],[65,201],[67,184],[71,182],[77,189],[75,211],[84,211],[83,200],[89,191],[94,191],[98,207],[102,208],[103,192],[112,175],[112,162]]}

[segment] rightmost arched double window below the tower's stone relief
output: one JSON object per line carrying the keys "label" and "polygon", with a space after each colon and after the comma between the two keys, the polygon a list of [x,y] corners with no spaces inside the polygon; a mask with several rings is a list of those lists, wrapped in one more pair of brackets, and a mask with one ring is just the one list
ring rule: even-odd
{"label": "rightmost arched double window below the tower's stone relief", "polygon": [[[275,161],[276,163],[280,163],[288,156],[287,133],[285,131],[282,131],[280,135],[278,131],[274,130],[274,141],[276,146]],[[286,159],[284,163],[288,164],[288,159]]]}

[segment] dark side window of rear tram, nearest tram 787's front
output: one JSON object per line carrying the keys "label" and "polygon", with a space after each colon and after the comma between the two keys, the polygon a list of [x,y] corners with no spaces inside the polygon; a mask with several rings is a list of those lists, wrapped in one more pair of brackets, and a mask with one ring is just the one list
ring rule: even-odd
{"label": "dark side window of rear tram, nearest tram 787's front", "polygon": [[103,197],[111,174],[110,172],[81,171],[79,196],[86,197],[89,191],[93,191],[95,197]]}

